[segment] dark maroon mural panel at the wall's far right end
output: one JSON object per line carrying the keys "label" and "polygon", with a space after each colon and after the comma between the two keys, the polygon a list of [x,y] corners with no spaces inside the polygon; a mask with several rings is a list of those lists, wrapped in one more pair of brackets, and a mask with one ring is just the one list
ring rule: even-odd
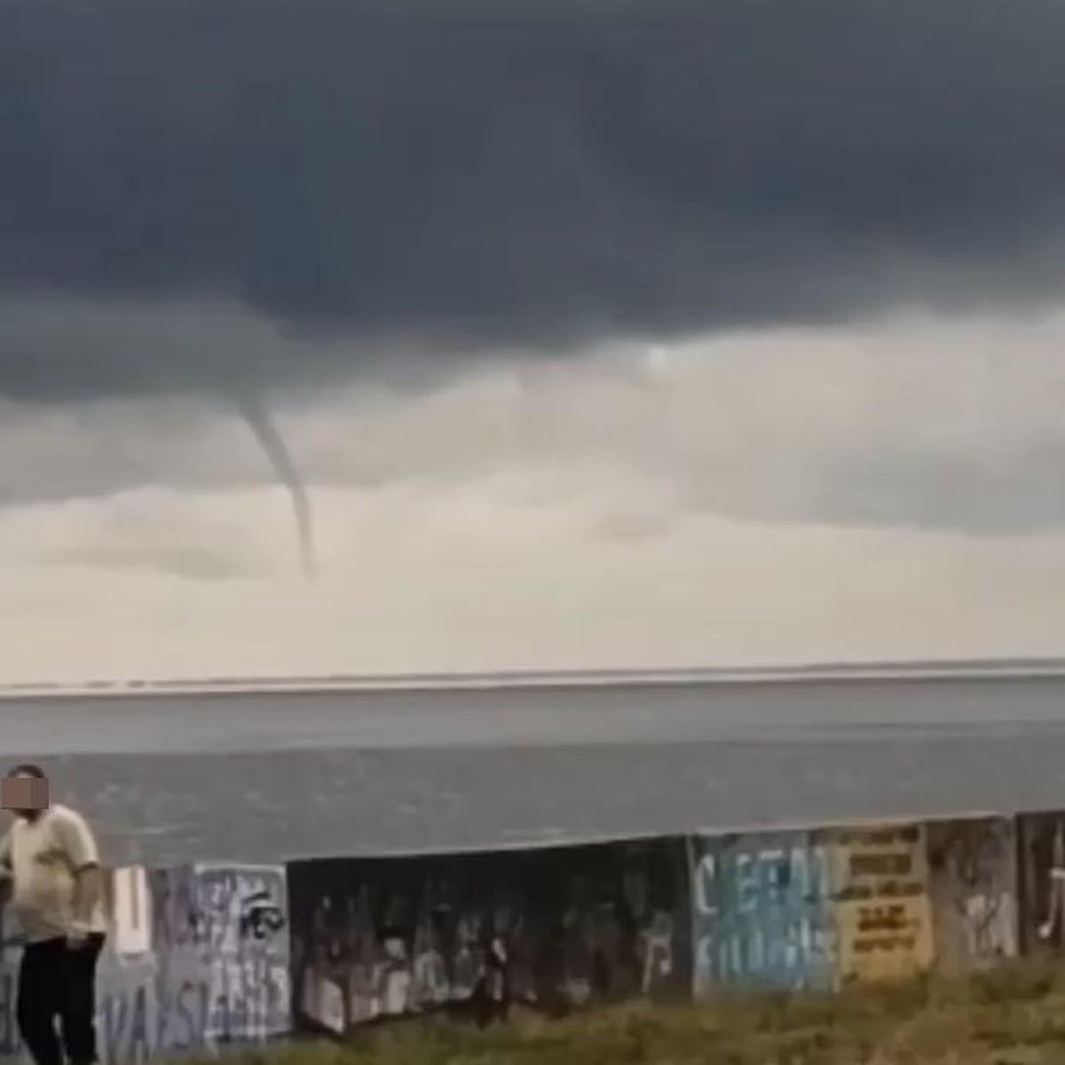
{"label": "dark maroon mural panel at the wall's far right end", "polygon": [[1021,950],[1065,954],[1065,810],[1019,814],[1016,823]]}

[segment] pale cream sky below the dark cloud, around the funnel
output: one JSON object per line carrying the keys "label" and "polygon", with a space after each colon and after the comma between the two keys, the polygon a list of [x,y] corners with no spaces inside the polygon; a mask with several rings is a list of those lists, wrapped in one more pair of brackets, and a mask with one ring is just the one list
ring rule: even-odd
{"label": "pale cream sky below the dark cloud, around the funnel", "polygon": [[0,675],[1065,652],[1065,314],[607,345],[275,406],[10,405]]}

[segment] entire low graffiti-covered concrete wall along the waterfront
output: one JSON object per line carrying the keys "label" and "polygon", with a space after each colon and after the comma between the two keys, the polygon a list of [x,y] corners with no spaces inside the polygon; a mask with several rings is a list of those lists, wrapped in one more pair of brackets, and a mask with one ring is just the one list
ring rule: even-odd
{"label": "entire low graffiti-covered concrete wall along the waterfront", "polygon": [[[109,871],[101,1061],[1065,953],[1065,812]],[[21,944],[2,915],[0,1056]],[[488,1015],[486,1014],[486,1015]]]}

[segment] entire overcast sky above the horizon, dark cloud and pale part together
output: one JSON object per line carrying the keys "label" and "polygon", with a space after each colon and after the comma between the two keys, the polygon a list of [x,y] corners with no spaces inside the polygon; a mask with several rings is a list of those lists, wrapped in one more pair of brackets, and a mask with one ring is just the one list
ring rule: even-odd
{"label": "entire overcast sky above the horizon, dark cloud and pale part together", "polygon": [[0,678],[1065,653],[1060,0],[432,6],[0,6]]}

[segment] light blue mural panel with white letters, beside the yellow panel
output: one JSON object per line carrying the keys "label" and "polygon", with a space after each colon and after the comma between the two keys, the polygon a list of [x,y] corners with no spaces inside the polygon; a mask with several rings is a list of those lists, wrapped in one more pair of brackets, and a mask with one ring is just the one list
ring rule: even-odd
{"label": "light blue mural panel with white letters, beside the yellow panel", "polygon": [[830,851],[818,833],[695,838],[691,859],[697,996],[834,985]]}

